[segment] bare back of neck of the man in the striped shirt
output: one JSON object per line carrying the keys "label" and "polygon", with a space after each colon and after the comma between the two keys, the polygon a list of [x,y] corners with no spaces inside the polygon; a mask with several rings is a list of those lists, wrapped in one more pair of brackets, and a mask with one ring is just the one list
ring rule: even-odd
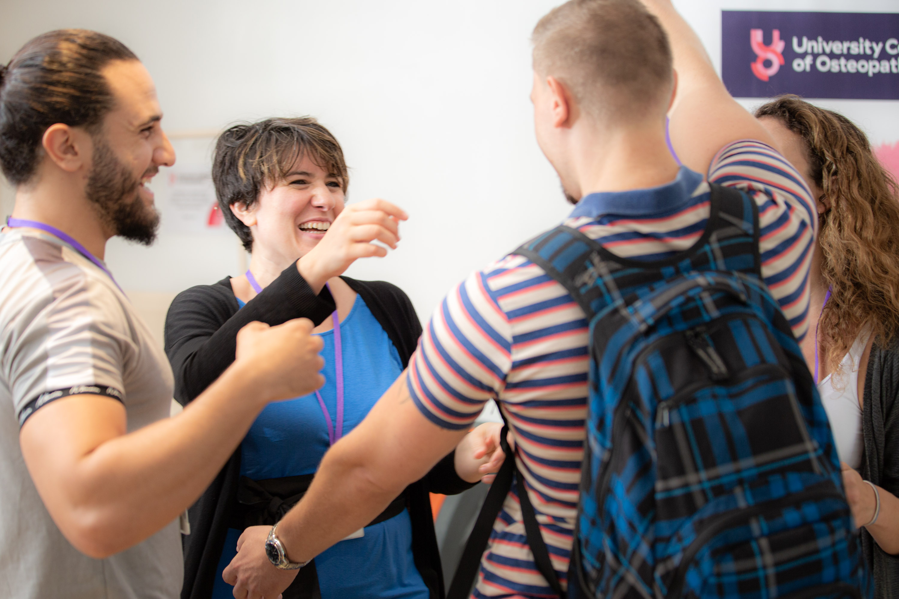
{"label": "bare back of neck of the man in the striped shirt", "polygon": [[674,181],[679,170],[663,127],[584,132],[574,140],[574,170],[582,197]]}

